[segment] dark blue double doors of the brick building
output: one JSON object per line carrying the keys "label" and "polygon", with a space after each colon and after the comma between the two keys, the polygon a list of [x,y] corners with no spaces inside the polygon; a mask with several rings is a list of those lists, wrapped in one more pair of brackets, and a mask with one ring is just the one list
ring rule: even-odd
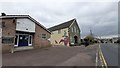
{"label": "dark blue double doors of the brick building", "polygon": [[19,35],[18,46],[28,46],[29,35]]}

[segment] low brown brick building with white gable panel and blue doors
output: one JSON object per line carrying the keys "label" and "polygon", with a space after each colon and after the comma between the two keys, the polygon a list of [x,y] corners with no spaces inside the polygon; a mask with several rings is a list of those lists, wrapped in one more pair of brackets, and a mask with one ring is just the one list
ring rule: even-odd
{"label": "low brown brick building with white gable panel and blue doors", "polygon": [[2,20],[2,51],[19,48],[41,48],[50,45],[50,31],[29,15],[0,16]]}

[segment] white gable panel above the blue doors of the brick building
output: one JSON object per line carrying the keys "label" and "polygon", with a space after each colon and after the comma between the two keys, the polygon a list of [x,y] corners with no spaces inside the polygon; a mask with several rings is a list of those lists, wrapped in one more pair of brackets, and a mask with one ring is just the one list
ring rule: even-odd
{"label": "white gable panel above the blue doors of the brick building", "polygon": [[17,19],[16,30],[35,32],[35,23],[28,18]]}

